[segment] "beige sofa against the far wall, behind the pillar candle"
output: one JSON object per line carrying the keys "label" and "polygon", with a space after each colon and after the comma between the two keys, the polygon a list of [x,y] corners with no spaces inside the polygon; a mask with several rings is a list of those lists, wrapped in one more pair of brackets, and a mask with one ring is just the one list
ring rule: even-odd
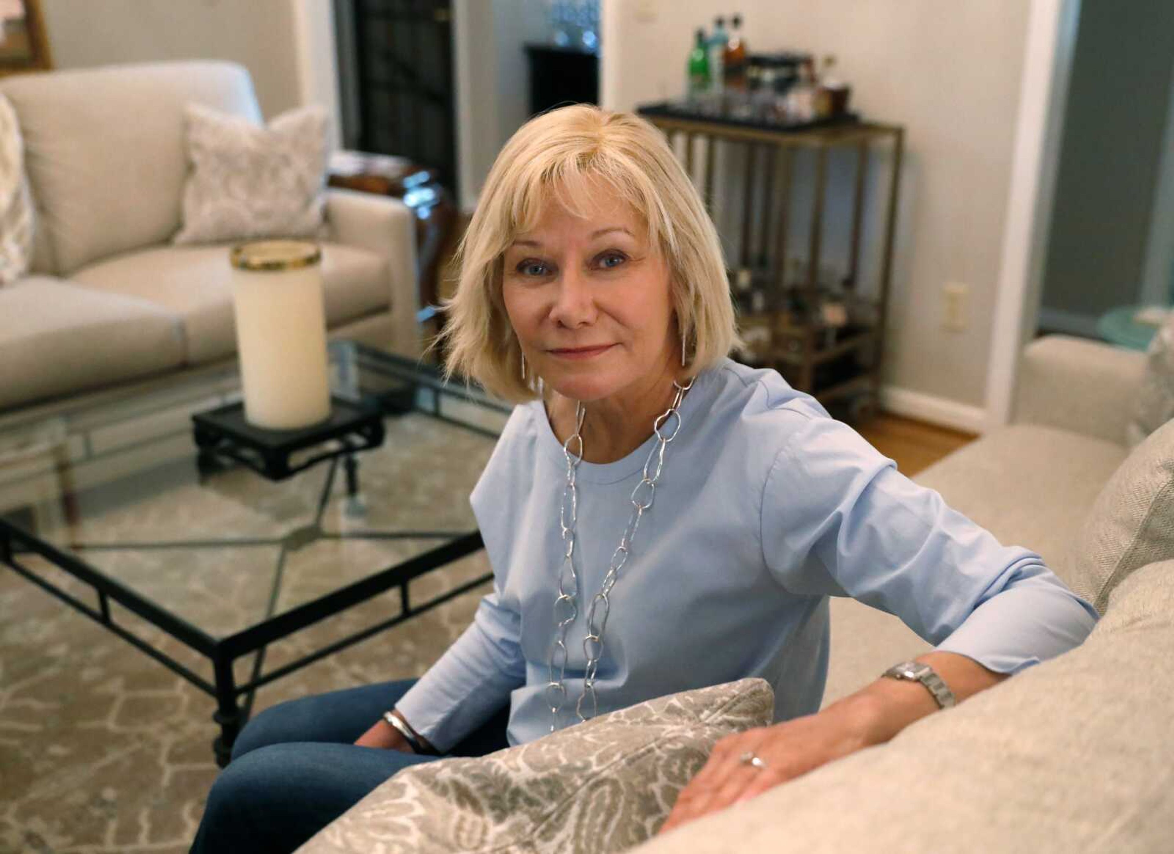
{"label": "beige sofa against the far wall, behind the pillar candle", "polygon": [[[7,77],[0,93],[36,206],[29,274],[0,287],[0,412],[232,357],[228,244],[169,240],[188,174],[184,106],[259,122],[248,72],[112,66]],[[332,336],[419,353],[405,205],[328,191],[322,271]]]}

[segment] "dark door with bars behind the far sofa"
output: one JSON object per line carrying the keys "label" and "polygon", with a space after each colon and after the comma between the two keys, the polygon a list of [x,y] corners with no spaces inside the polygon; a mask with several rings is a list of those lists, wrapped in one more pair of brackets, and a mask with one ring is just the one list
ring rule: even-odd
{"label": "dark door with bars behind the far sofa", "polygon": [[339,46],[353,50],[356,133],[364,151],[439,171],[456,195],[451,0],[351,0]]}

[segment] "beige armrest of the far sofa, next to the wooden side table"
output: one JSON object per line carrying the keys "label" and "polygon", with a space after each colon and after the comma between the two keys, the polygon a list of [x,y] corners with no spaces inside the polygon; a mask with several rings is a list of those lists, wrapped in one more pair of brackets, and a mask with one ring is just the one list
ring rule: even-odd
{"label": "beige armrest of the far sofa, next to the wooden side table", "polygon": [[416,216],[397,198],[356,190],[326,190],[330,238],[376,252],[387,260],[392,340],[390,348],[417,358],[421,352],[419,276],[416,270]]}

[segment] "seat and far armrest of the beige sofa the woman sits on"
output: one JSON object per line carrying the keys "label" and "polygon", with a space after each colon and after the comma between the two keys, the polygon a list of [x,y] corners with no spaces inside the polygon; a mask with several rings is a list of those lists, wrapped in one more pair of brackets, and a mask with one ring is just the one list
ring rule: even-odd
{"label": "seat and far armrest of the beige sofa the woman sits on", "polygon": [[[1135,351],[1068,336],[1037,339],[1024,351],[1012,423],[913,480],[942,493],[1000,542],[1039,553],[1068,580],[1075,557],[1070,547],[1101,487],[1128,456],[1125,425],[1143,368],[1145,357]],[[896,617],[834,598],[824,705],[903,655],[931,649]]]}

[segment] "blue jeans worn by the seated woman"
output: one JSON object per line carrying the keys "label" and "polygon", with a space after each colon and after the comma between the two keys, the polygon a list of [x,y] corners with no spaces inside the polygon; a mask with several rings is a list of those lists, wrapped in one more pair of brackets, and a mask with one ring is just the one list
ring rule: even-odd
{"label": "blue jeans worn by the seated woman", "polygon": [[[208,793],[191,854],[295,850],[400,768],[436,757],[356,747],[416,679],[331,691],[266,709],[232,745]],[[508,746],[504,707],[448,755]]]}

